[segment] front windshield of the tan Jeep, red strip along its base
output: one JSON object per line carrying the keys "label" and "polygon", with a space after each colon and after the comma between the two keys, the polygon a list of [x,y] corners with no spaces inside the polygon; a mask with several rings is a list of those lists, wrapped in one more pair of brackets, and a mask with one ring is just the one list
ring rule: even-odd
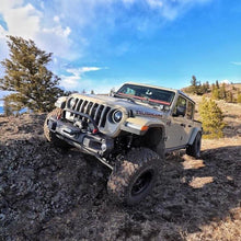
{"label": "front windshield of the tan Jeep, red strip along its base", "polygon": [[116,94],[123,97],[131,97],[142,102],[148,101],[153,105],[168,105],[170,106],[175,95],[172,91],[154,89],[150,87],[141,87],[135,84],[124,84]]}

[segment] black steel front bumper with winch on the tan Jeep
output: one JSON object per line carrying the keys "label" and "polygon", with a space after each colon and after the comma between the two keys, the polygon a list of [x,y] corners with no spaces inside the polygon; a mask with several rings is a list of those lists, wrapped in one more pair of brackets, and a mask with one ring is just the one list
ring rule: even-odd
{"label": "black steel front bumper with winch on the tan Jeep", "polygon": [[107,157],[114,148],[112,138],[101,133],[92,134],[85,129],[80,129],[71,123],[66,123],[55,117],[49,118],[48,128],[59,139],[95,157]]}

